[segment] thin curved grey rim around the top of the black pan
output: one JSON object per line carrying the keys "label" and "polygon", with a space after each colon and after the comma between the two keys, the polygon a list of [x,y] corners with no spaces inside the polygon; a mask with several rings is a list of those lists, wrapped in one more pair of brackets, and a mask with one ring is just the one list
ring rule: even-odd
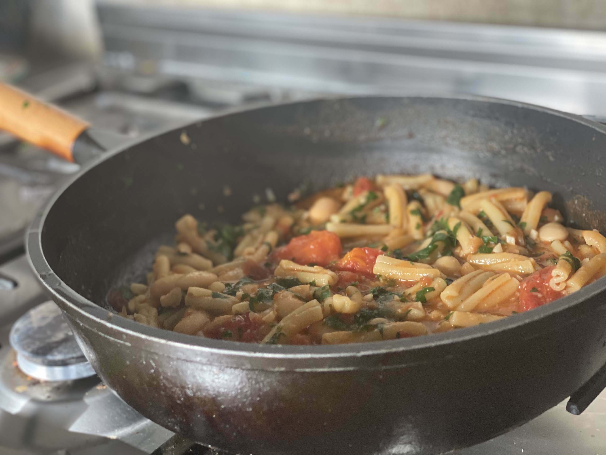
{"label": "thin curved grey rim around the top of the black pan", "polygon": [[[236,112],[228,111],[221,113],[221,115],[213,116],[204,120],[195,121],[193,123],[184,124],[184,126],[172,127],[165,129],[161,132],[154,132],[142,137],[136,138],[132,141],[122,144],[114,150],[110,150],[104,153],[101,157],[93,160],[90,163],[85,164],[82,168],[76,172],[71,178],[68,178],[64,184],[53,194],[53,196],[44,204],[42,209],[36,214],[33,219],[28,231],[25,235],[25,246],[27,251],[27,260],[30,267],[35,272],[36,278],[41,282],[42,286],[47,289],[53,296],[53,300],[58,300],[68,308],[75,311],[79,317],[89,320],[90,323],[95,325],[104,326],[105,329],[115,329],[122,335],[128,335],[130,337],[136,337],[148,342],[159,343],[160,345],[171,345],[178,346],[179,348],[192,349],[199,352],[207,352],[210,354],[222,354],[223,356],[235,356],[235,357],[261,357],[264,359],[273,358],[276,360],[291,359],[291,360],[308,360],[308,359],[327,359],[327,358],[338,358],[338,357],[360,357],[360,356],[375,356],[393,352],[411,352],[418,351],[421,349],[434,348],[441,345],[455,345],[468,340],[477,339],[479,337],[488,337],[490,335],[496,335],[510,329],[531,324],[542,320],[549,315],[555,315],[562,311],[565,311],[574,306],[578,306],[583,302],[587,302],[591,297],[604,291],[606,288],[606,281],[604,283],[594,282],[588,286],[584,286],[578,292],[567,295],[558,299],[556,302],[551,302],[550,305],[541,306],[540,308],[533,309],[520,314],[514,314],[510,317],[502,320],[491,322],[488,325],[479,325],[470,328],[461,328],[454,331],[443,332],[439,334],[430,334],[422,337],[412,337],[408,339],[399,340],[385,340],[381,342],[372,343],[351,343],[345,345],[317,345],[317,346],[293,346],[293,345],[259,345],[256,343],[240,343],[226,340],[214,340],[206,339],[203,337],[196,337],[194,335],[178,334],[176,332],[166,331],[164,329],[152,328],[145,326],[134,321],[128,320],[127,318],[116,318],[117,314],[109,313],[107,310],[99,305],[91,302],[78,292],[70,288],[58,275],[55,274],[53,269],[48,265],[48,262],[42,249],[41,233],[44,227],[45,220],[48,213],[52,210],[56,200],[64,193],[64,191],[70,187],[76,180],[81,178],[88,170],[97,166],[105,160],[112,158],[114,155],[123,152],[124,150],[130,149],[135,144],[142,143],[150,140],[156,136],[160,136],[163,133],[181,130],[187,127],[196,126],[206,121],[215,120],[228,115],[238,115],[239,113],[246,113],[253,110],[264,110],[271,109],[277,106],[288,106],[288,105],[302,105],[307,103],[313,103],[318,101],[353,101],[356,99],[382,99],[382,98],[396,98],[402,101],[406,99],[418,99],[418,98],[434,98],[434,99],[460,99],[469,101],[479,101],[482,103],[496,103],[505,104],[508,106],[520,107],[523,109],[530,109],[539,111],[551,115],[556,115],[576,123],[583,124],[584,126],[590,127],[599,133],[606,134],[606,127],[599,123],[591,120],[587,120],[581,116],[574,115],[567,112],[561,112],[559,110],[550,109],[548,107],[535,106],[533,104],[521,103],[519,101],[511,101],[501,98],[492,98],[490,96],[478,96],[478,95],[415,95],[415,96],[382,96],[382,95],[370,95],[370,96],[328,96],[322,98],[306,99],[304,101],[295,101],[281,104],[270,104],[268,106],[256,106],[250,107],[250,109],[240,109]],[[604,281],[604,280],[602,280]],[[64,310],[65,311],[65,310]],[[112,316],[107,317],[108,314]],[[556,329],[557,326],[549,328]],[[116,337],[112,337],[117,340]]]}

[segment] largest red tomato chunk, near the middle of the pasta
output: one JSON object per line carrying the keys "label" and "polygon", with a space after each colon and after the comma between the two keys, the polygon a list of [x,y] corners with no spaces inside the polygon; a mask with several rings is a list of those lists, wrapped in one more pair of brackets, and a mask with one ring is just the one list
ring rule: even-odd
{"label": "largest red tomato chunk, near the middle of the pasta", "polygon": [[327,266],[341,255],[341,240],[328,231],[311,231],[308,235],[292,238],[287,245],[276,249],[272,257],[288,259],[301,265]]}

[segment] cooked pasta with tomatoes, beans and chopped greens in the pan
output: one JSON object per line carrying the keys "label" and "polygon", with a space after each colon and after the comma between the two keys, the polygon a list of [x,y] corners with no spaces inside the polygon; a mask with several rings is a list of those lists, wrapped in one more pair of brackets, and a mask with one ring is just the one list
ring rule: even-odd
{"label": "cooked pasta with tomatoes, beans and chopped greens in the pan", "polygon": [[[290,195],[296,199],[297,192]],[[121,315],[184,334],[270,344],[416,337],[496,321],[606,275],[606,238],[566,227],[551,194],[432,175],[378,175],[239,226],[191,215]]]}

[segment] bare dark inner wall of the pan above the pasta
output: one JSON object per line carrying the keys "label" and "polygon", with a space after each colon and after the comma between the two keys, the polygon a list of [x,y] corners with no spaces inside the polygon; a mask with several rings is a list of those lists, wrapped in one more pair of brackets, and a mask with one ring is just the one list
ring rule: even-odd
{"label": "bare dark inner wall of the pan above the pasta", "polygon": [[42,249],[62,281],[107,306],[110,289],[142,280],[185,213],[234,223],[268,189],[285,201],[295,188],[425,172],[548,190],[568,224],[605,231],[605,149],[593,124],[496,100],[327,99],[250,110],[164,133],[89,169],[50,207]]}

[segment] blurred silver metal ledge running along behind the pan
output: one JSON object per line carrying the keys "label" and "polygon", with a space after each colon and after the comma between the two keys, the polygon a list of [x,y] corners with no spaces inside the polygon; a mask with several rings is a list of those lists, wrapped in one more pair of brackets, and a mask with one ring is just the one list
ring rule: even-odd
{"label": "blurred silver metal ledge running along behind the pan", "polygon": [[467,92],[606,108],[606,33],[99,2],[105,65],[315,93]]}

